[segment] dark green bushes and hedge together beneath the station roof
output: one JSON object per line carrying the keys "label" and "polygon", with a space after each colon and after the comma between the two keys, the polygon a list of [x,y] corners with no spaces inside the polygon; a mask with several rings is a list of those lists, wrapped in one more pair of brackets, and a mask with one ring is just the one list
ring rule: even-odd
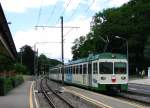
{"label": "dark green bushes and hedge together beneath the station roof", "polygon": [[10,90],[23,83],[22,74],[24,73],[26,73],[25,66],[5,55],[0,55],[0,96],[6,95]]}

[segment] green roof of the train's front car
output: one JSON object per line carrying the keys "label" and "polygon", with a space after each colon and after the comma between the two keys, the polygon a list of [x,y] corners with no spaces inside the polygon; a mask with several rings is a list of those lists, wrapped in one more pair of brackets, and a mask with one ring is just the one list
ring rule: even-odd
{"label": "green roof of the train's front car", "polygon": [[66,65],[89,62],[89,61],[98,60],[98,59],[127,59],[127,56],[123,54],[117,54],[117,53],[101,53],[101,54],[96,54],[96,55],[90,54],[87,58],[82,58],[82,59],[78,59],[75,61],[71,61],[67,63]]}

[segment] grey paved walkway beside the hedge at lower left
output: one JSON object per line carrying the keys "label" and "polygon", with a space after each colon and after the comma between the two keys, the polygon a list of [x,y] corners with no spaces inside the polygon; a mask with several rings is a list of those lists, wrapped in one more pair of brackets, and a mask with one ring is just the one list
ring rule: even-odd
{"label": "grey paved walkway beside the hedge at lower left", "polygon": [[32,81],[25,81],[6,96],[0,96],[0,108],[29,108],[29,93]]}

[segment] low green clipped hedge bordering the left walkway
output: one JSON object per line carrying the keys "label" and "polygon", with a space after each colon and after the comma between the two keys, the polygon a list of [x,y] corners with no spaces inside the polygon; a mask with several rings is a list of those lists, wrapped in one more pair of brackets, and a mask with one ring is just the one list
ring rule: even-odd
{"label": "low green clipped hedge bordering the left walkway", "polygon": [[11,89],[23,82],[22,76],[0,77],[0,96],[6,95]]}

